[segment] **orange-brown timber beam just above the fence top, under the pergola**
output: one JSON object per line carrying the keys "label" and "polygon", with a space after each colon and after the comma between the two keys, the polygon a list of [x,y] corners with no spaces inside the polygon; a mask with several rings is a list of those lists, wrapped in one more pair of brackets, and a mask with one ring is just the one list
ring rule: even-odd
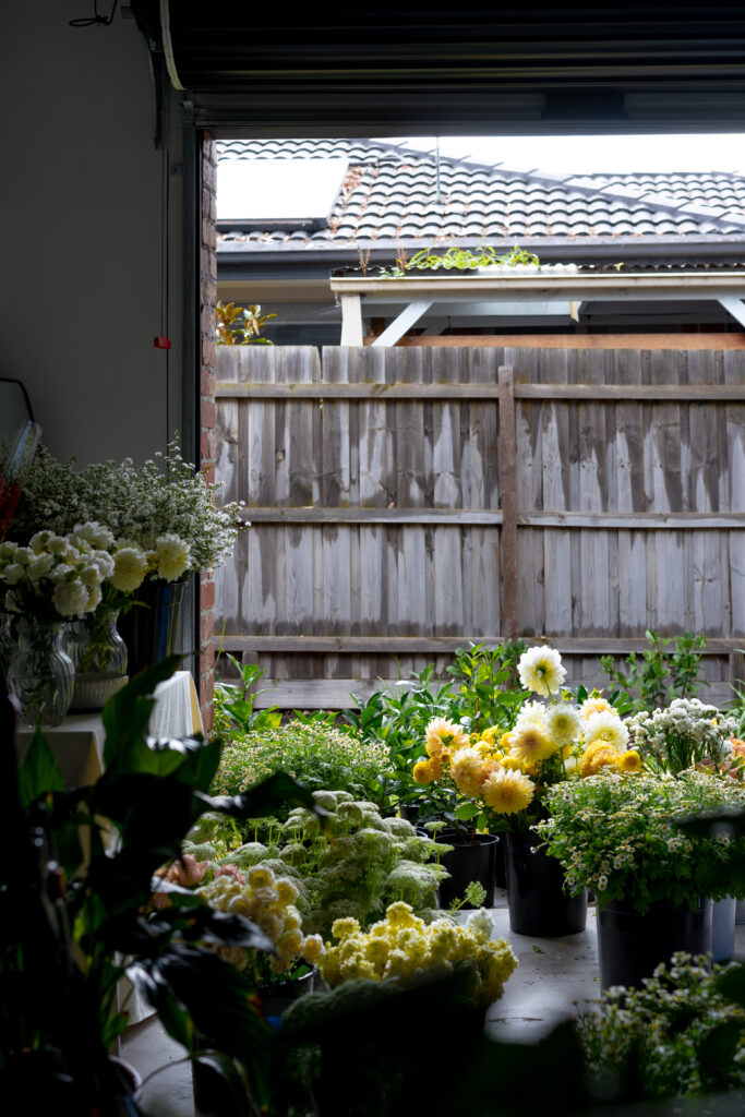
{"label": "orange-brown timber beam just above the fence top, under the pergola", "polygon": [[[367,343],[367,341],[365,340]],[[743,350],[745,333],[722,334],[418,334],[403,337],[399,346],[424,349],[460,345],[485,349],[507,345],[510,349],[571,350]]]}

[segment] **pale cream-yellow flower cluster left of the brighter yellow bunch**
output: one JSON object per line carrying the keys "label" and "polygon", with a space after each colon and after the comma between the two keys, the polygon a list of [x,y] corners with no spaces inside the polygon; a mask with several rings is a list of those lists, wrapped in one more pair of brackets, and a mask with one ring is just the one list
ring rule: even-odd
{"label": "pale cream-yellow flower cluster left of the brighter yellow bunch", "polygon": [[[323,954],[321,936],[303,934],[303,919],[295,906],[297,886],[284,877],[275,877],[266,866],[252,866],[243,884],[237,876],[226,875],[216,877],[199,892],[210,907],[246,916],[261,928],[277,947],[277,954],[270,958],[275,973],[285,973],[298,957],[315,963]],[[229,961],[243,970],[248,964],[247,952]]]}

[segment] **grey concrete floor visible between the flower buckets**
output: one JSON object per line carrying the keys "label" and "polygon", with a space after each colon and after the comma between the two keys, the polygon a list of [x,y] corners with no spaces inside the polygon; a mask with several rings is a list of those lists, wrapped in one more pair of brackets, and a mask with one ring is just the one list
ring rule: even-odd
{"label": "grey concrete floor visible between the flower buckets", "polygon": [[[594,907],[588,910],[586,929],[565,938],[513,934],[507,894],[500,889],[491,917],[494,937],[507,938],[519,963],[504,996],[486,1016],[487,1032],[495,1039],[535,1042],[585,1001],[600,996]],[[735,958],[745,961],[745,925],[736,927]],[[139,1097],[150,1117],[194,1117],[191,1069],[181,1061],[181,1052],[155,1018],[127,1029],[123,1037],[122,1057],[143,1079],[157,1071]]]}

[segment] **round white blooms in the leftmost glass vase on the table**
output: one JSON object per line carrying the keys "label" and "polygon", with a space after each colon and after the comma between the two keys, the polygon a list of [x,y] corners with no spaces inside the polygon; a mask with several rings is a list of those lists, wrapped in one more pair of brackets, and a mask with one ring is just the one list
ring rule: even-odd
{"label": "round white blooms in the leftmost glass vase on the table", "polygon": [[28,546],[0,543],[4,608],[25,619],[63,621],[90,613],[102,583],[114,573],[107,551],[73,535],[37,532]]}

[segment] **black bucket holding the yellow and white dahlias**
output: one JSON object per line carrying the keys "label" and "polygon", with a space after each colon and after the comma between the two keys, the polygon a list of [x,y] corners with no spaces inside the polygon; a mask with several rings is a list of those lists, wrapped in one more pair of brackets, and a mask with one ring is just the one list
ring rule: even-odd
{"label": "black bucket holding the yellow and white dahlias", "polygon": [[541,838],[529,830],[507,833],[505,868],[509,928],[516,935],[558,938],[584,930],[588,894],[564,891],[564,870],[545,849],[535,849]]}

